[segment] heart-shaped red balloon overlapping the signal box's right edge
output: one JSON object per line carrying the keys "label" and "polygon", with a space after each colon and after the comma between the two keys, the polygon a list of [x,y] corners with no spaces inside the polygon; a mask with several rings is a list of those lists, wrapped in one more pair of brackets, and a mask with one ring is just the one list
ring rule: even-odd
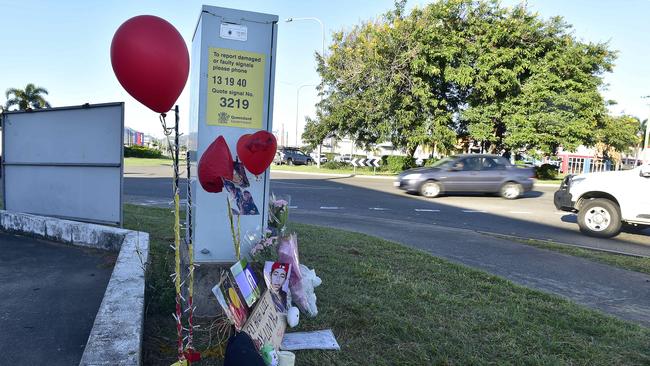
{"label": "heart-shaped red balloon overlapping the signal box's right edge", "polygon": [[237,156],[246,169],[255,175],[264,173],[275,157],[278,143],[272,133],[257,131],[242,135],[237,141]]}

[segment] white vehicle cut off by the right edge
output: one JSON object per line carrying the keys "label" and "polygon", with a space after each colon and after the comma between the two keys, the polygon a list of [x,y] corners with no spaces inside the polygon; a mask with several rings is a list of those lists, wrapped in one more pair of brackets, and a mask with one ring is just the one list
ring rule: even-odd
{"label": "white vehicle cut off by the right edge", "polygon": [[558,210],[577,212],[580,231],[590,236],[612,237],[623,223],[650,226],[650,164],[567,176],[554,203]]}

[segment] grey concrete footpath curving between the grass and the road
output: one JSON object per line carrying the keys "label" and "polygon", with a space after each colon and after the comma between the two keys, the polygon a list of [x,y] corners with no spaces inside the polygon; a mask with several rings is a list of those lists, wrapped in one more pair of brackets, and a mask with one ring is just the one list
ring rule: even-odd
{"label": "grey concrete footpath curving between the grass and the road", "polygon": [[[551,292],[650,326],[650,276],[478,232],[341,212],[293,210],[291,220],[362,232]],[[411,230],[409,230],[411,229]]]}

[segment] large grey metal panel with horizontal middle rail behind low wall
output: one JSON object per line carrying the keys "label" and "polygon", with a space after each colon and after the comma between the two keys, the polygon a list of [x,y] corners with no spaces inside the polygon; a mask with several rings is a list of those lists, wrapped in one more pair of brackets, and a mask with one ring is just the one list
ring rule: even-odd
{"label": "large grey metal panel with horizontal middle rail behind low wall", "polygon": [[5,209],[121,225],[123,128],[123,103],[6,113]]}

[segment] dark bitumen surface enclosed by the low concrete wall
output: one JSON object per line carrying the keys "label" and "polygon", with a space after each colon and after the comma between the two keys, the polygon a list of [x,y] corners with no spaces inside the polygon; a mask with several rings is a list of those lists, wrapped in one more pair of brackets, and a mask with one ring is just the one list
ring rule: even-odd
{"label": "dark bitumen surface enclosed by the low concrete wall", "polygon": [[0,364],[79,364],[114,262],[0,232]]}

